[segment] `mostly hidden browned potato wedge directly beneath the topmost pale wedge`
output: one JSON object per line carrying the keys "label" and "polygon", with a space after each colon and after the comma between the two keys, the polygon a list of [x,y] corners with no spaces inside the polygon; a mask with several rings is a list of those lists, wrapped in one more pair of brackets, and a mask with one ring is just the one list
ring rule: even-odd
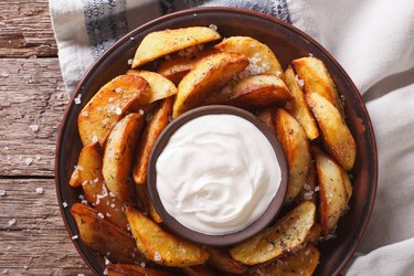
{"label": "mostly hidden browned potato wedge directly beneath the topmost pale wedge", "polygon": [[204,50],[198,53],[193,59],[179,55],[172,56],[171,59],[161,63],[161,65],[158,67],[158,73],[170,79],[173,84],[178,85],[187,73],[195,67],[195,64],[199,61],[219,51],[215,49]]}

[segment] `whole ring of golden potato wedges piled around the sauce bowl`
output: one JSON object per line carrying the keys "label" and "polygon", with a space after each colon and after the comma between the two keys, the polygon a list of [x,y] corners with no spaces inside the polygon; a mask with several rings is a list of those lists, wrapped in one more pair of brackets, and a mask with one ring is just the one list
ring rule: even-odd
{"label": "whole ring of golden potato wedges piled around the sauce bowl", "polygon": [[[148,34],[131,70],[78,115],[84,148],[68,184],[87,201],[71,206],[81,241],[110,259],[109,275],[312,275],[317,246],[332,236],[352,194],[348,172],[357,147],[343,100],[317,57],[293,60],[284,71],[253,38],[222,39],[208,26]],[[170,233],[146,188],[148,160],[166,126],[215,104],[247,109],[274,130],[289,170],[283,215],[224,248]]]}

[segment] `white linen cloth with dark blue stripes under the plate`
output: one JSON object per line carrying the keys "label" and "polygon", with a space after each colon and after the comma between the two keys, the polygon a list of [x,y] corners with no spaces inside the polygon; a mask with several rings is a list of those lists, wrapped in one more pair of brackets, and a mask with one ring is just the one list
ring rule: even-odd
{"label": "white linen cloth with dark blue stripes under the plate", "polygon": [[198,6],[278,17],[320,42],[344,67],[370,113],[380,171],[374,210],[347,275],[413,275],[414,1],[50,0],[67,92],[128,30]]}

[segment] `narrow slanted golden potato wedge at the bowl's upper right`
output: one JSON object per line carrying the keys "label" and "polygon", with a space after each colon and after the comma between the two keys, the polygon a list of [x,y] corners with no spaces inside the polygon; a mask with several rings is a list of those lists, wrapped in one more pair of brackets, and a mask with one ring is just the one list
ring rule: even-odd
{"label": "narrow slanted golden potato wedge at the bowl's upper right", "polygon": [[309,106],[306,104],[304,92],[296,79],[294,70],[290,66],[285,71],[285,77],[286,85],[293,96],[291,99],[286,103],[285,109],[291,116],[294,116],[297,121],[299,121],[306,132],[306,136],[310,140],[314,140],[319,136],[318,126],[316,125]]}

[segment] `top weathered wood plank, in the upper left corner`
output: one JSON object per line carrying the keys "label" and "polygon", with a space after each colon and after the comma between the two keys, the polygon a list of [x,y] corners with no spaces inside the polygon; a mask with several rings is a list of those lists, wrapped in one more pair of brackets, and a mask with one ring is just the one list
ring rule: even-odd
{"label": "top weathered wood plank, in the upper left corner", "polygon": [[0,0],[0,57],[56,56],[47,0]]}

